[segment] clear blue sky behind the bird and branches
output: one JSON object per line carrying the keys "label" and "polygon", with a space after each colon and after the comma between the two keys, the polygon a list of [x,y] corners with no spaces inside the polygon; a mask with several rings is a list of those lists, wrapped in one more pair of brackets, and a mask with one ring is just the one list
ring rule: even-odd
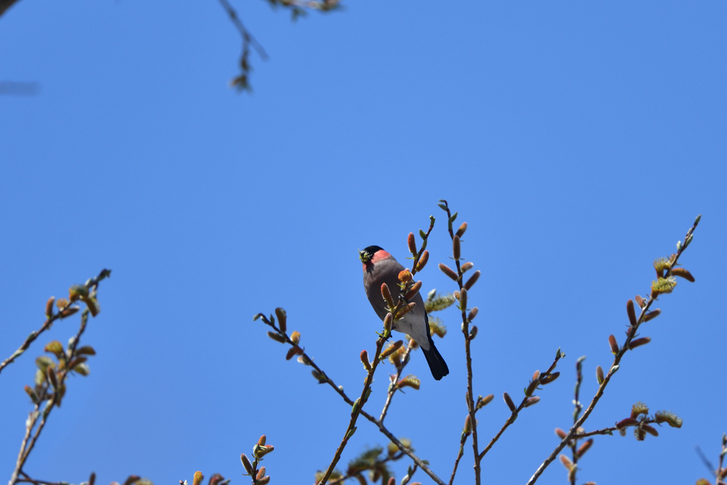
{"label": "clear blue sky behind the bird and branches", "polygon": [[[312,483],[350,408],[285,361],[254,313],[288,311],[316,362],[358,392],[358,353],[380,328],[357,249],[400,261],[406,235],[438,218],[421,273],[451,291],[448,199],[469,229],[462,255],[482,270],[473,342],[475,393],[518,396],[561,347],[561,378],[483,461],[489,482],[524,483],[624,339],[625,302],[651,262],[701,213],[680,282],[627,355],[587,429],[635,401],[672,409],[680,430],[599,437],[579,483],[694,483],[727,431],[727,338],[719,258],[727,246],[727,6],[722,2],[348,2],[291,23],[265,2],[233,4],[267,50],[254,94],[227,87],[239,37],[219,4],[21,0],[0,18],[0,356],[40,326],[44,302],[101,268],[103,308],[84,338],[98,355],[71,382],[26,470],[102,484],[129,473],[156,484],[195,470],[246,483],[238,460],[257,437],[273,483]],[[438,342],[451,374],[395,398],[397,436],[448,477],[465,418],[454,310]],[[49,334],[0,376],[0,457],[12,471],[30,409],[23,385]],[[383,404],[385,366],[369,410]],[[509,413],[479,417],[488,441]],[[361,422],[345,463],[385,437]],[[471,483],[471,452],[458,483]],[[403,476],[404,460],[395,466]],[[416,478],[427,481],[417,472]],[[564,483],[554,463],[541,478]]]}

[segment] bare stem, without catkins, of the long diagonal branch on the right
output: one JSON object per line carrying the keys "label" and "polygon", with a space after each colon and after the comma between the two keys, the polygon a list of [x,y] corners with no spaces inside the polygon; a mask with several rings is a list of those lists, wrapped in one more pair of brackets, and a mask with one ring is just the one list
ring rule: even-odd
{"label": "bare stem, without catkins, of the long diagonal branch on the right", "polygon": [[[694,221],[694,225],[687,231],[686,238],[684,239],[684,244],[679,246],[677,253],[674,255],[674,259],[670,262],[669,269],[667,270],[666,276],[670,276],[672,269],[677,265],[677,262],[679,260],[679,257],[684,252],[684,250],[688,247],[689,243],[691,242],[691,236],[694,232],[694,229],[696,228],[696,225],[699,223],[699,217],[696,218]],[[614,362],[611,364],[611,369],[609,369],[608,374],[606,374],[606,377],[604,377],[603,382],[601,382],[601,385],[598,386],[598,391],[595,393],[595,396],[593,396],[593,399],[590,401],[590,404],[586,408],[583,415],[577,420],[573,427],[569,430],[568,434],[566,434],[566,437],[563,438],[560,444],[558,446],[555,446],[555,449],[553,452],[548,455],[548,457],[545,459],[544,462],[540,464],[540,466],[535,470],[535,473],[533,476],[531,476],[530,480],[528,481],[527,485],[533,485],[539,476],[542,475],[542,473],[545,471],[545,468],[550,465],[550,463],[555,460],[556,457],[558,457],[558,453],[560,453],[563,448],[566,447],[568,442],[575,436],[577,433],[578,428],[580,428],[583,423],[586,422],[588,417],[590,416],[591,412],[593,412],[593,409],[595,408],[596,404],[598,404],[598,401],[601,400],[601,396],[603,396],[603,393],[606,391],[606,387],[608,386],[608,382],[611,382],[611,376],[614,375],[614,369],[618,369],[619,362],[621,362],[621,359],[626,354],[626,351],[629,350],[629,345],[631,343],[631,340],[636,335],[636,331],[638,330],[638,326],[643,323],[644,317],[646,316],[646,313],[648,313],[649,308],[651,308],[652,303],[656,298],[649,297],[648,301],[646,302],[646,305],[641,308],[641,313],[638,316],[638,319],[636,321],[636,325],[632,327],[632,331],[627,335],[626,342],[624,342],[623,347],[619,350],[619,353],[616,353],[616,356],[614,357]]]}

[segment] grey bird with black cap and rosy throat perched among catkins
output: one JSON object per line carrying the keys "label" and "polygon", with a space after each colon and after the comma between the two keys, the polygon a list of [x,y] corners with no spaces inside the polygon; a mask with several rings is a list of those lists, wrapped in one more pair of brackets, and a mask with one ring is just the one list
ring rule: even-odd
{"label": "grey bird with black cap and rosy throat perched among catkins", "polygon": [[[358,252],[358,257],[364,264],[366,297],[369,298],[369,302],[374,307],[377,316],[383,320],[389,311],[381,294],[381,285],[383,283],[387,284],[391,296],[394,301],[397,301],[399,293],[401,293],[398,274],[404,270],[404,267],[380,246],[368,246],[363,251]],[[406,313],[403,318],[394,321],[393,329],[408,334],[409,337],[414,339],[414,342],[419,344],[419,347],[424,351],[425,358],[427,358],[432,377],[435,380],[441,380],[442,377],[449,374],[449,368],[432,340],[429,331],[429,316],[427,316],[427,310],[424,308],[422,295],[417,293],[411,298],[411,302],[417,305],[409,313]]]}

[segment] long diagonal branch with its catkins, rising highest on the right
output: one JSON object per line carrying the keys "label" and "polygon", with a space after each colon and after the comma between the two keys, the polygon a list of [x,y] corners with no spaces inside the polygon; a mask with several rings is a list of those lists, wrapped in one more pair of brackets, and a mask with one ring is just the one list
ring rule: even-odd
{"label": "long diagonal branch with its catkins, rising highest on the right", "polygon": [[[608,374],[606,374],[606,376],[603,378],[603,382],[601,382],[601,385],[598,386],[598,391],[596,392],[595,396],[593,396],[593,399],[590,401],[590,404],[588,405],[583,415],[579,417],[579,419],[574,423],[569,432],[562,439],[561,443],[555,447],[553,452],[550,453],[545,461],[542,462],[537,470],[535,470],[535,473],[533,474],[533,476],[531,476],[527,485],[533,485],[537,481],[539,476],[541,476],[542,473],[545,471],[545,468],[547,468],[547,466],[550,465],[553,460],[555,460],[555,457],[558,456],[558,453],[560,453],[563,448],[566,447],[569,441],[571,441],[571,439],[576,435],[578,428],[580,428],[583,423],[586,422],[591,412],[593,412],[593,409],[598,404],[598,401],[601,400],[601,396],[603,396],[603,393],[606,391],[608,382],[611,382],[611,377],[619,369],[619,363],[621,362],[621,359],[624,357],[627,350],[630,350],[632,348],[631,344],[637,334],[638,327],[643,324],[644,321],[659,315],[659,310],[654,310],[654,312],[651,312],[651,314],[649,314],[648,310],[651,308],[651,305],[654,303],[659,294],[672,291],[673,287],[675,286],[675,282],[672,277],[673,274],[678,274],[678,276],[684,276],[685,271],[679,271],[677,273],[675,272],[675,269],[680,268],[675,267],[681,254],[685,251],[689,244],[691,244],[694,229],[696,229],[696,226],[699,224],[699,220],[701,220],[701,218],[702,216],[699,215],[694,220],[694,224],[691,226],[691,228],[689,228],[686,233],[686,236],[684,238],[684,244],[682,244],[681,241],[678,241],[676,254],[672,254],[668,261],[663,261],[664,268],[656,268],[657,278],[656,281],[651,284],[651,297],[649,297],[648,300],[643,300],[641,297],[637,298],[637,302],[641,308],[641,313],[639,314],[638,318],[636,318],[635,313],[632,313],[634,308],[632,300],[629,300],[629,302],[627,303],[627,310],[629,312],[631,326],[629,327],[629,330],[627,332],[626,342],[624,342],[622,348],[618,349],[617,345],[616,348],[614,348],[615,339],[613,338],[613,336],[609,338],[609,343],[611,343],[612,350],[614,350],[614,362],[613,364],[611,364],[611,369],[609,369]],[[691,278],[690,281],[694,281],[694,278],[691,277],[691,274],[689,274],[688,271],[686,272],[686,275],[688,275],[688,279]],[[648,318],[646,318],[647,316]]]}

